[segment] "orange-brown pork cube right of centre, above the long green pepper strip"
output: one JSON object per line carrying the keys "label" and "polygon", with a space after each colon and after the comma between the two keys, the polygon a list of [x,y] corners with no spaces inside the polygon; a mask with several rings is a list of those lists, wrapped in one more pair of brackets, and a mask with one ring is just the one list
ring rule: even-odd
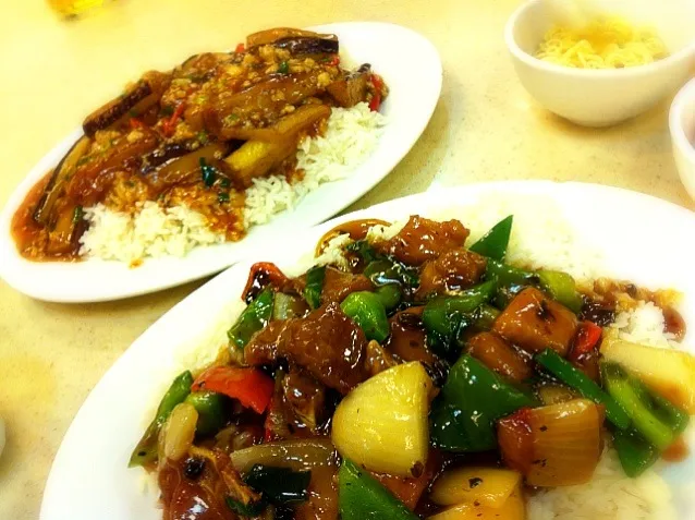
{"label": "orange-brown pork cube right of centre, above the long green pepper strip", "polygon": [[498,316],[492,330],[528,352],[551,348],[568,353],[576,334],[574,313],[535,287],[521,291]]}

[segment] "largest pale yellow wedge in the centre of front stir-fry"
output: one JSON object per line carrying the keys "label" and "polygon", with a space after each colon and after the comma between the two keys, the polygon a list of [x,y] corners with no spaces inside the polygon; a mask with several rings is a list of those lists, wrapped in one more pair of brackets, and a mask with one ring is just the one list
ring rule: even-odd
{"label": "largest pale yellow wedge in the centre of front stir-fry", "polygon": [[341,456],[394,476],[425,468],[432,382],[415,361],[393,366],[352,390],[333,414],[331,437]]}

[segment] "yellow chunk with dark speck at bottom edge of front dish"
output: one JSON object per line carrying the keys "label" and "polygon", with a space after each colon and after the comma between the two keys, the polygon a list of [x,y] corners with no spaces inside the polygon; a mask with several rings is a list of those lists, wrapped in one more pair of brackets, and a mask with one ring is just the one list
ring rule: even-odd
{"label": "yellow chunk with dark speck at bottom edge of front dish", "polygon": [[429,497],[440,506],[474,504],[500,508],[521,483],[521,474],[497,468],[461,468],[444,472]]}

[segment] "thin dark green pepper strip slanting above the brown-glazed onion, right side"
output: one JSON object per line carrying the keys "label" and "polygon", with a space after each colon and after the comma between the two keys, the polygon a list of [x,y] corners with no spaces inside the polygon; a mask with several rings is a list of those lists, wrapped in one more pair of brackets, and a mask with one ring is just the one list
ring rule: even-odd
{"label": "thin dark green pepper strip slanting above the brown-glazed onion, right side", "polygon": [[564,360],[554,350],[546,349],[536,354],[534,359],[542,365],[544,368],[569,387],[574,388],[582,394],[582,396],[594,402],[603,404],[606,407],[606,419],[620,430],[625,430],[630,426],[632,421],[620,404],[618,404],[611,396],[601,390],[584,372]]}

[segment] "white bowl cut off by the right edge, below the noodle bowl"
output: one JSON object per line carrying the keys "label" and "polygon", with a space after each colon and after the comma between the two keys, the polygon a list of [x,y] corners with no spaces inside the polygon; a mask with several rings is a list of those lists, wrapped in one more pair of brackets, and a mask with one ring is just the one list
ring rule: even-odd
{"label": "white bowl cut off by the right edge, below the noodle bowl", "polygon": [[673,99],[669,128],[681,181],[695,198],[695,78],[681,88]]}

